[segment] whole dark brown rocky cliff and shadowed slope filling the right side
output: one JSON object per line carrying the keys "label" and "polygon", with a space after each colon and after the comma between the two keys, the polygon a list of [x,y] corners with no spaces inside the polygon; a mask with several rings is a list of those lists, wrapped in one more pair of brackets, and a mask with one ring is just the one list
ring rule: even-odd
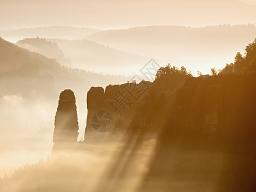
{"label": "whole dark brown rocky cliff and shadowed slope filling the right side", "polygon": [[[118,157],[109,172],[124,163],[118,176],[123,178],[143,143],[154,138],[157,146],[140,191],[174,190],[178,181],[182,183],[179,189],[188,188],[188,183],[198,189],[196,183],[202,181],[206,191],[252,191],[255,182],[248,180],[256,173],[255,82],[256,72],[244,72],[200,77],[173,75],[154,83],[109,85],[105,91],[91,88],[84,143],[109,143],[122,138],[122,153],[129,153],[132,148],[130,160],[124,162],[124,156]],[[139,99],[132,97],[127,88],[143,83],[147,83],[147,91]],[[132,104],[126,111],[118,108],[120,93],[125,98],[131,96]],[[113,120],[111,129],[99,132],[93,128],[93,122],[100,119],[100,113],[93,119],[97,111],[111,114],[112,118],[106,118]],[[106,121],[99,121],[99,125],[103,124]]]}

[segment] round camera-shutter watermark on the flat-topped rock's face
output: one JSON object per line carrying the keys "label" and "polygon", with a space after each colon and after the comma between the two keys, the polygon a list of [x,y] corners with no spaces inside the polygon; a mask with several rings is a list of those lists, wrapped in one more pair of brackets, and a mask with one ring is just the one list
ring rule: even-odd
{"label": "round camera-shutter watermark on the flat-topped rock's face", "polygon": [[113,126],[113,116],[108,111],[97,111],[92,116],[92,128],[97,132],[107,132]]}

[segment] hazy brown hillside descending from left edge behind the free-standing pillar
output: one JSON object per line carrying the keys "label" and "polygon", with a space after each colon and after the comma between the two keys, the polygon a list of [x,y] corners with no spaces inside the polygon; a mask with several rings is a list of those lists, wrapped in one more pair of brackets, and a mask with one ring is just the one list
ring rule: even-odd
{"label": "hazy brown hillside descending from left edge behind the free-standing pillar", "polygon": [[[86,91],[86,84],[88,89],[93,84],[97,83],[114,83],[114,82],[126,82],[127,77],[122,76],[104,76],[93,72],[86,72],[85,70],[72,69],[63,67],[56,60],[52,60],[38,54],[36,52],[30,52],[26,49],[22,49],[17,45],[6,42],[3,38],[0,38],[0,78],[1,86],[4,86],[12,90],[20,90],[24,93],[28,92],[28,84],[26,86],[15,85],[8,86],[9,83],[22,84],[22,81],[33,81],[36,88],[40,88],[40,85],[52,79],[51,87],[55,86],[57,93],[65,87],[77,87],[83,84],[83,91]],[[51,76],[51,78],[49,78]],[[15,77],[15,81],[7,81],[8,78]],[[36,84],[35,79],[39,77],[45,77],[40,79],[42,84]],[[20,78],[20,81],[17,79]],[[29,79],[28,79],[29,78]],[[119,80],[118,80],[119,79]],[[45,80],[45,81],[44,81]],[[25,83],[26,84],[26,83]],[[50,91],[46,87],[47,93]],[[84,90],[85,89],[85,90]],[[19,92],[19,91],[17,91]],[[3,93],[3,88],[2,92]],[[8,91],[6,91],[8,93]],[[4,94],[4,93],[3,93]]]}

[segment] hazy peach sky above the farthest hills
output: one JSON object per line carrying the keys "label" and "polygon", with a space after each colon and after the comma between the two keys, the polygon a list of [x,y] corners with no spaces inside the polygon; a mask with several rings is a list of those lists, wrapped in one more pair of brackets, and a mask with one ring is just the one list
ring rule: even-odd
{"label": "hazy peach sky above the farthest hills", "polygon": [[256,0],[0,0],[0,28],[147,25],[205,26],[256,22]]}

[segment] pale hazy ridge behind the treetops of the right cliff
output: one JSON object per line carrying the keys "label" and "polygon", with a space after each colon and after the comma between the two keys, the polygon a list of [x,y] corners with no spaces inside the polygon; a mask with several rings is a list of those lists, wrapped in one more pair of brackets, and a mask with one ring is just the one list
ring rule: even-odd
{"label": "pale hazy ridge behind the treetops of the right cliff", "polygon": [[120,51],[155,58],[159,63],[171,62],[193,72],[200,69],[209,73],[212,66],[223,68],[226,62],[231,62],[234,52],[242,52],[255,34],[255,25],[145,26],[100,31],[86,38]]}

